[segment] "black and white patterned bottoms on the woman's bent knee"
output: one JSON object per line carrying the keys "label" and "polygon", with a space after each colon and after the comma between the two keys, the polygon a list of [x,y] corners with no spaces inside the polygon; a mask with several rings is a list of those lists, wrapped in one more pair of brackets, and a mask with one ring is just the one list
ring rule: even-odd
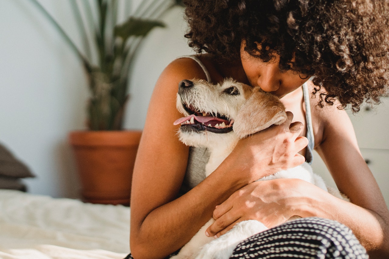
{"label": "black and white patterned bottoms on the woman's bent knee", "polygon": [[[345,225],[310,217],[287,222],[247,238],[235,248],[230,258],[366,259],[369,256]],[[129,254],[125,259],[133,257]]]}

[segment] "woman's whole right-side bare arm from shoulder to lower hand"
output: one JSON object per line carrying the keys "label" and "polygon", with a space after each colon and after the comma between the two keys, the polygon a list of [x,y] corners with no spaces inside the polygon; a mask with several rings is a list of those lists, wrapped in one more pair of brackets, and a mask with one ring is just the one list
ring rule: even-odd
{"label": "woman's whole right-side bare arm from shoulder to lower hand", "polygon": [[293,215],[317,216],[336,220],[352,229],[372,258],[388,258],[389,212],[377,182],[359,152],[348,115],[336,107],[314,112],[319,112],[315,118],[325,125],[322,130],[315,129],[323,136],[315,138],[319,142],[316,150],[338,189],[352,203],[303,180],[254,182],[235,192],[214,210],[216,222],[207,231],[219,236],[243,220],[257,219],[271,228]]}

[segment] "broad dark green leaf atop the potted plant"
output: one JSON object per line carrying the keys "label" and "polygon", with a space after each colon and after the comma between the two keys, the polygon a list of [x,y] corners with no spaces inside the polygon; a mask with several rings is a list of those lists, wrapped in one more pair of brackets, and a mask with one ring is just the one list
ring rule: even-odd
{"label": "broad dark green leaf atop the potted plant", "polygon": [[115,27],[114,34],[126,41],[130,36],[144,37],[155,27],[165,27],[165,24],[160,21],[130,17],[125,23]]}

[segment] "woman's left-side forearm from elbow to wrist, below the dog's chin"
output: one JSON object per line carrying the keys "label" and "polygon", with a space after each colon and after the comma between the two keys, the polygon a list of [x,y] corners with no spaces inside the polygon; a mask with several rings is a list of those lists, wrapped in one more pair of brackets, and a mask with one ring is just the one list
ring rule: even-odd
{"label": "woman's left-side forearm from elbow to wrist, below the dog's chin", "polygon": [[216,205],[244,186],[230,170],[221,166],[188,193],[152,210],[140,224],[131,215],[133,256],[163,258],[185,245],[212,217]]}

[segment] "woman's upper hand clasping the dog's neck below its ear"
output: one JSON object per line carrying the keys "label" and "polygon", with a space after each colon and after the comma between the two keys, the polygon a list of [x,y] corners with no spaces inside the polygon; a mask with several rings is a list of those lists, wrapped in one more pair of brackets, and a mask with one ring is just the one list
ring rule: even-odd
{"label": "woman's upper hand clasping the dog's neck below its ear", "polygon": [[293,122],[293,114],[287,113],[287,120],[278,126],[271,126],[238,142],[223,163],[228,163],[231,172],[242,172],[244,185],[280,170],[304,163],[299,151],[308,145],[305,137],[299,137],[303,124]]}

